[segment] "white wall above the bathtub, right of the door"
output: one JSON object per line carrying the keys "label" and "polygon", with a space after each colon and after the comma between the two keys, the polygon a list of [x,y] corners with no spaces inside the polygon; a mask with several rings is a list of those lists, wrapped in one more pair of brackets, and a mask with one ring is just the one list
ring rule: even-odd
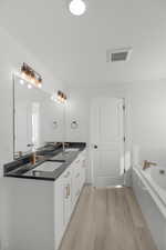
{"label": "white wall above the bathtub, right of the door", "polygon": [[129,96],[134,162],[166,166],[166,80],[136,82]]}

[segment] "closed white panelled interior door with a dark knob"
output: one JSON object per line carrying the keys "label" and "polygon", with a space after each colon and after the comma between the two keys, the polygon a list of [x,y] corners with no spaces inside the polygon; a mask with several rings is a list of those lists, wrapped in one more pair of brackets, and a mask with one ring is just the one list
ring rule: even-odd
{"label": "closed white panelled interior door with a dark knob", "polygon": [[97,98],[91,109],[91,160],[95,187],[124,183],[123,99]]}

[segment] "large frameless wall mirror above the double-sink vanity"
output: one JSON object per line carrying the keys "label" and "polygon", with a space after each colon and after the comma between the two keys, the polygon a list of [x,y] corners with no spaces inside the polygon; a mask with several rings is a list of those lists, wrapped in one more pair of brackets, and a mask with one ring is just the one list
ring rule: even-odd
{"label": "large frameless wall mirror above the double-sink vanity", "polygon": [[64,104],[13,76],[13,156],[30,153],[48,142],[64,141]]}

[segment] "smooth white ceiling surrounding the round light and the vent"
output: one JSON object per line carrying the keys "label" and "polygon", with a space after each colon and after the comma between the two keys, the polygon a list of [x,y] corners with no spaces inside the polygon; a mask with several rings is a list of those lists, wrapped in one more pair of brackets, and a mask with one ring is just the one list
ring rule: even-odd
{"label": "smooth white ceiling surrounding the round light and the vent", "polygon": [[[86,0],[82,17],[68,1],[2,1],[0,23],[69,86],[166,78],[165,0]],[[106,49],[123,47],[131,60],[106,63]]]}

